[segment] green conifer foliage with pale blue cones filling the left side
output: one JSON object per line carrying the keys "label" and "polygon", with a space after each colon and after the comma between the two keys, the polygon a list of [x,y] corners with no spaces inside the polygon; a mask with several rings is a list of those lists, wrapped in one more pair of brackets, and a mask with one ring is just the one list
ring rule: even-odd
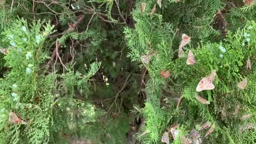
{"label": "green conifer foliage with pale blue cones filling the left side", "polygon": [[[76,102],[73,99],[52,94],[55,91],[54,81],[57,77],[63,79],[60,83],[60,90],[69,90],[67,95],[74,97],[75,89],[81,94],[88,95],[90,90],[89,79],[97,72],[100,62],[94,62],[86,74],[77,72],[74,75],[73,70],[58,76],[57,74],[45,75],[46,69],[42,68],[45,60],[49,59],[47,52],[42,44],[46,37],[52,33],[53,27],[49,23],[45,26],[43,22],[38,21],[28,26],[27,21],[17,20],[12,28],[6,29],[3,39],[4,45],[12,45],[8,54],[5,56],[7,67],[11,68],[1,81],[1,103],[3,114],[15,111],[17,115],[26,119],[28,124],[21,126],[14,124],[5,129],[8,135],[2,137],[2,140],[8,139],[10,143],[49,143],[52,140],[53,131],[65,130],[68,125],[73,125],[71,115],[79,111],[82,121],[95,121],[97,112],[91,105]],[[43,31],[40,31],[43,29]],[[67,87],[67,89],[66,89]],[[57,100],[54,100],[56,99]],[[58,105],[61,110],[54,108]],[[68,113],[63,114],[64,109]],[[56,113],[57,111],[60,113]],[[99,113],[100,114],[100,113]],[[96,116],[96,117],[95,117]],[[71,119],[71,122],[70,119]],[[6,123],[7,116],[3,116],[1,121],[3,125],[12,125]],[[65,120],[66,119],[66,120]],[[61,121],[59,122],[59,120]],[[66,126],[65,126],[66,125]],[[52,129],[54,127],[55,129]],[[2,129],[3,130],[3,129]],[[12,139],[9,139],[12,138]],[[23,141],[23,142],[22,142]]]}

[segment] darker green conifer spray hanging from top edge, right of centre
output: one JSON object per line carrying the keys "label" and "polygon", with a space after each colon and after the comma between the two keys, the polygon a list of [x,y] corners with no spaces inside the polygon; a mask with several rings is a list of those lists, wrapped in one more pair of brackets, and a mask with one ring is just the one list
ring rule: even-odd
{"label": "darker green conifer spray hanging from top edge, right of centre", "polygon": [[[163,1],[164,2],[164,1]],[[212,27],[214,14],[221,10],[225,4],[220,1],[182,1],[165,5],[163,19],[169,21],[180,33],[186,33],[196,38],[209,41],[210,36],[219,35]]]}

